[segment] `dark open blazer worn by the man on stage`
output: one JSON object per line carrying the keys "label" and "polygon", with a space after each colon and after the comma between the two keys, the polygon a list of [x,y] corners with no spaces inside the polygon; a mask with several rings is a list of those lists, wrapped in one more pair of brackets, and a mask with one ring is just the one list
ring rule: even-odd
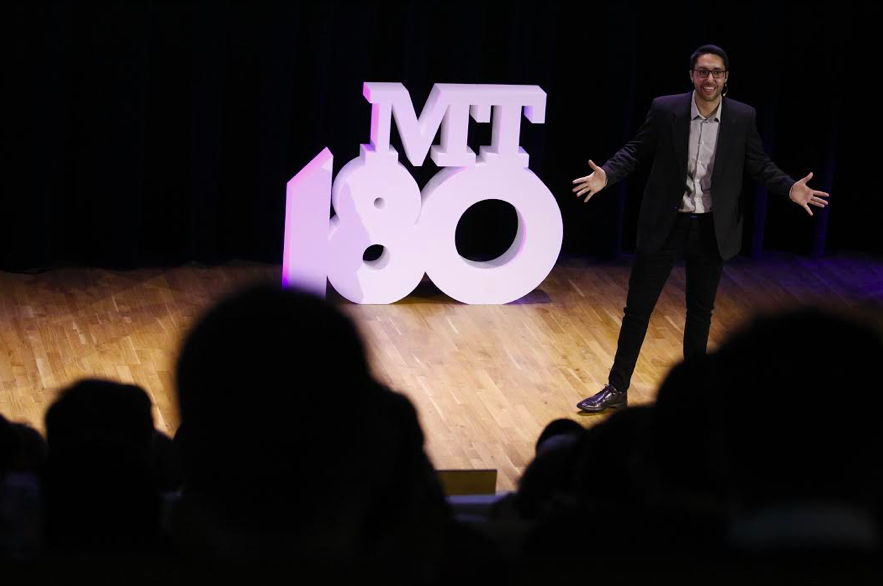
{"label": "dark open blazer worn by the man on stage", "polygon": [[[687,142],[693,92],[653,100],[638,134],[602,168],[607,187],[625,178],[639,163],[653,161],[638,216],[639,252],[657,252],[665,243],[687,189]],[[742,177],[748,175],[770,191],[788,193],[794,180],[766,155],[757,132],[755,110],[723,98],[714,170],[711,211],[717,246],[724,260],[742,247]]]}

